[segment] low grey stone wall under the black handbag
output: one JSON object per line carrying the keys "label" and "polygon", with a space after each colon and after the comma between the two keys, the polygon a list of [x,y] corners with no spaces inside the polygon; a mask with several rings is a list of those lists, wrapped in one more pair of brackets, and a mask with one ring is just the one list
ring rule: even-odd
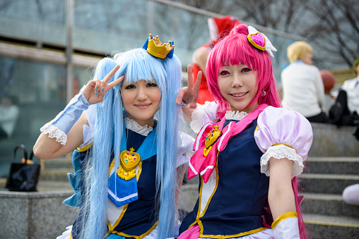
{"label": "low grey stone wall under the black handbag", "polygon": [[57,238],[78,209],[62,204],[73,191],[0,192],[0,238]]}

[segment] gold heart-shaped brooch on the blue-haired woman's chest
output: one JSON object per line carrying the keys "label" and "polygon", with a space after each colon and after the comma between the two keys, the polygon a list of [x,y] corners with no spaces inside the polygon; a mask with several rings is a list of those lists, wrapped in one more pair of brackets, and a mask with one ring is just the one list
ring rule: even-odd
{"label": "gold heart-shaped brooch on the blue-haired woman's chest", "polygon": [[117,169],[117,175],[124,179],[130,180],[136,176],[136,166],[141,162],[140,154],[134,152],[134,148],[124,150],[119,154],[120,168]]}

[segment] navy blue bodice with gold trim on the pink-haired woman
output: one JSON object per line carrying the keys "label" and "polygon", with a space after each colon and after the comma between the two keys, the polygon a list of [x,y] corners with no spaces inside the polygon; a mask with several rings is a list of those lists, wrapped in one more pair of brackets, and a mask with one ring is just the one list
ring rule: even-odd
{"label": "navy blue bodice with gold trim on the pink-haired woman", "polygon": [[[225,121],[225,125],[228,123],[230,121]],[[211,235],[230,238],[263,229],[261,216],[264,214],[264,203],[268,196],[269,177],[261,173],[260,158],[263,153],[254,140],[256,126],[257,120],[242,133],[233,136],[223,152],[218,153],[218,183],[208,207],[200,216],[199,202],[203,188],[201,180],[199,200],[193,212],[190,212],[182,222],[180,233],[195,222],[199,224],[200,236],[204,238],[211,238]]]}

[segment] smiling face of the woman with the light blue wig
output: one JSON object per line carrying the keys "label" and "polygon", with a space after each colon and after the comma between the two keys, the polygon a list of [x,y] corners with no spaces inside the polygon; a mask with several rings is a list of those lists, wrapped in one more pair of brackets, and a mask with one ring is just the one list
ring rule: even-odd
{"label": "smiling face of the woman with the light blue wig", "polygon": [[161,99],[160,88],[155,80],[127,83],[125,79],[121,86],[121,96],[129,118],[142,126],[155,125],[153,116],[158,111]]}

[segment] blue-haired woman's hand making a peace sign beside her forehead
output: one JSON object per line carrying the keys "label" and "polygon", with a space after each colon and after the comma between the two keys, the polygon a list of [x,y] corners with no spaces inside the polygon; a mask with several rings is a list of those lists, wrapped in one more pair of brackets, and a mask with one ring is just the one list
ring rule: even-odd
{"label": "blue-haired woman's hand making a peace sign beside her forehead", "polygon": [[83,96],[86,97],[88,100],[88,103],[90,104],[97,104],[102,102],[103,97],[105,97],[105,92],[107,90],[110,90],[115,85],[118,85],[122,80],[124,80],[124,75],[122,75],[117,80],[114,80],[110,82],[110,84],[107,84],[107,82],[112,78],[114,73],[116,73],[119,69],[119,65],[115,66],[110,73],[108,73],[105,78],[102,80],[96,79],[96,80],[90,80],[86,87],[83,88],[82,93]]}

